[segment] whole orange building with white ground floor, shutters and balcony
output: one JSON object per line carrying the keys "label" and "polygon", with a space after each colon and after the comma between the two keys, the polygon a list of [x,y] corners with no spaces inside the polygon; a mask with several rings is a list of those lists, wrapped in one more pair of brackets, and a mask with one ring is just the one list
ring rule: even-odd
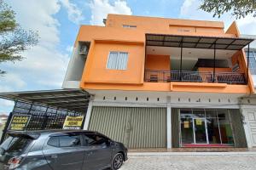
{"label": "whole orange building with white ground floor, shutters and balcony", "polygon": [[84,129],[129,148],[252,146],[241,98],[254,91],[243,50],[253,38],[235,22],[108,14],[104,24],[80,27],[62,86],[90,94]]}

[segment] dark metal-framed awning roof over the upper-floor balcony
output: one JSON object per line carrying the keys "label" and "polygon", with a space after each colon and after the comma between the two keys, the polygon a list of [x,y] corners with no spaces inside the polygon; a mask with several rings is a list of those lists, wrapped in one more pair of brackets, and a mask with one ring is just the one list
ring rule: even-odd
{"label": "dark metal-framed awning roof over the upper-floor balcony", "polygon": [[180,36],[164,34],[146,34],[147,46],[175,47],[175,48],[215,48],[240,50],[253,42],[245,37],[202,37]]}

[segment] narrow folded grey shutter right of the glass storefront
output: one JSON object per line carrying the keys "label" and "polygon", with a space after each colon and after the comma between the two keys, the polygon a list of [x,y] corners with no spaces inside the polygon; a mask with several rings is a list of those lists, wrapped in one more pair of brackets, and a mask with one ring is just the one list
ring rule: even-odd
{"label": "narrow folded grey shutter right of the glass storefront", "polygon": [[230,109],[230,123],[237,148],[247,148],[247,139],[241,120],[241,112],[238,109]]}

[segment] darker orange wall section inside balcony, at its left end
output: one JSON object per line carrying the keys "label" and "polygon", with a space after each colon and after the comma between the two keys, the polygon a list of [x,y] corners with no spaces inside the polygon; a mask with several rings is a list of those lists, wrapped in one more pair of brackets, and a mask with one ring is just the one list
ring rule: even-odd
{"label": "darker orange wall section inside balcony, at its left end", "polygon": [[170,71],[170,56],[169,55],[147,55],[146,70],[153,71]]}

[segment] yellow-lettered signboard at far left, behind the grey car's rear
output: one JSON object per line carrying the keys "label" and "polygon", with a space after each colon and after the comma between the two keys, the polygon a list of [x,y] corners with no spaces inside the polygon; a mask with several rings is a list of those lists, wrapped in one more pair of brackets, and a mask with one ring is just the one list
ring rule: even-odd
{"label": "yellow-lettered signboard at far left, behind the grey car's rear", "polygon": [[9,130],[23,131],[30,121],[31,115],[14,115],[9,123]]}

